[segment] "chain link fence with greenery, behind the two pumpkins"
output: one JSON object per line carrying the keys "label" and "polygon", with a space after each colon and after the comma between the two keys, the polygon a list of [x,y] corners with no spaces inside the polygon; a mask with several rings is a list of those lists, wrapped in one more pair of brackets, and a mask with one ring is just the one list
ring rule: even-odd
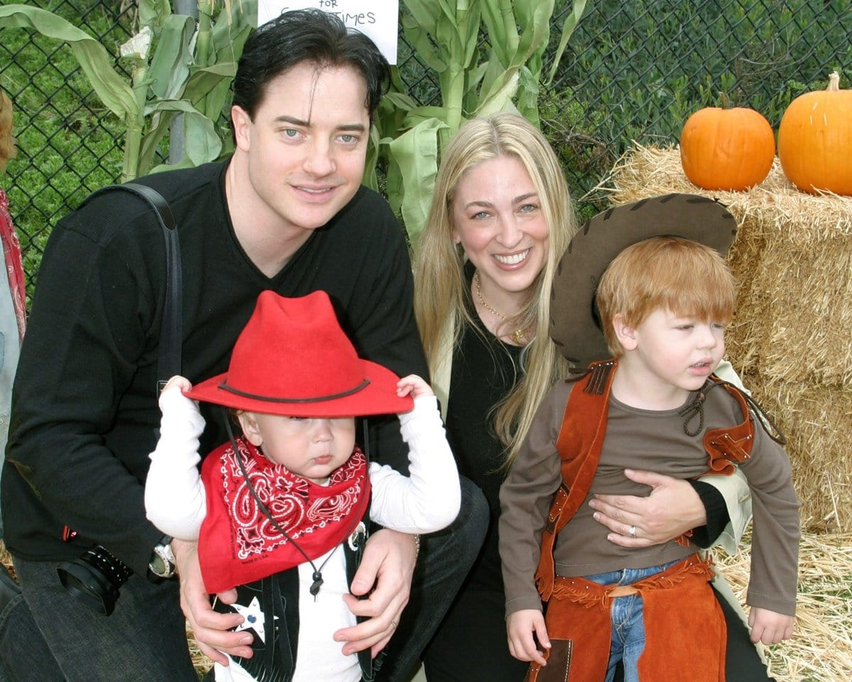
{"label": "chain link fence with greenery, behind the two pumpkins", "polygon": [[539,97],[542,130],[588,216],[631,141],[677,142],[691,113],[722,106],[720,93],[777,131],[786,106],[830,72],[852,87],[850,35],[849,0],[593,0]]}

